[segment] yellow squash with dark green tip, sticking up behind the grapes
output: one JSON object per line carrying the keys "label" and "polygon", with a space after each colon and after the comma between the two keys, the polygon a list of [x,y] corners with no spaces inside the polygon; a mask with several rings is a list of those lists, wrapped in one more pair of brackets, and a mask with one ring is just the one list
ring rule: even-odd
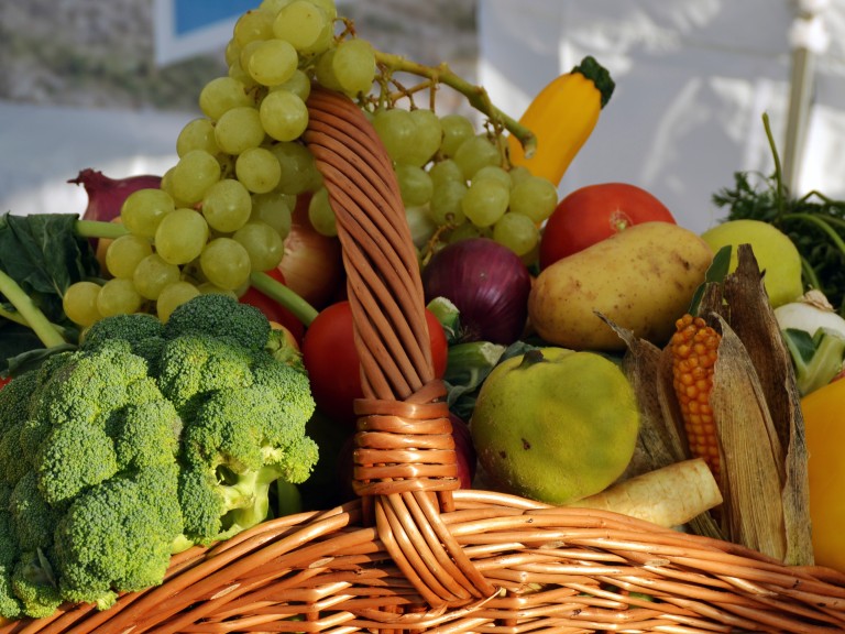
{"label": "yellow squash with dark green tip, sticking up behind the grapes", "polygon": [[535,151],[526,155],[519,141],[508,136],[511,164],[525,166],[557,186],[592,134],[614,87],[610,73],[592,56],[553,79],[519,119],[537,138]]}

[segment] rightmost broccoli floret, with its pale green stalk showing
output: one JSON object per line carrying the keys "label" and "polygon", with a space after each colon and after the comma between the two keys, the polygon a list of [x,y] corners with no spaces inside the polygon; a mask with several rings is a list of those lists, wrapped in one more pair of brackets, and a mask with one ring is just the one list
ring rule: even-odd
{"label": "rightmost broccoli floret, with its pale green stalk showing", "polygon": [[208,544],[263,522],[273,482],[308,478],[317,445],[300,416],[292,418],[277,390],[265,385],[208,396],[183,433],[179,499],[190,539]]}

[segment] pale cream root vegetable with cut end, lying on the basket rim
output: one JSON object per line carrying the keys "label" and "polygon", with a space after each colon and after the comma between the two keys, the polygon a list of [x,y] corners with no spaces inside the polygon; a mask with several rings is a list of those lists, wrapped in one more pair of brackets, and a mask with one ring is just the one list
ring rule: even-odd
{"label": "pale cream root vegetable with cut end, lying on the basket rim", "polygon": [[713,473],[694,458],[618,482],[570,506],[613,511],[671,528],[721,503]]}

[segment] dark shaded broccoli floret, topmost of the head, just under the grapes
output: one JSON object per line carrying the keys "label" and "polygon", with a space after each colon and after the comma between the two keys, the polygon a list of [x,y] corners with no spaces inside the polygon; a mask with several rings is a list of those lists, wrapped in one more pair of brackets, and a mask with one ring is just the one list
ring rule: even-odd
{"label": "dark shaded broccoli floret, topmost of the head, just under the grapes", "polygon": [[254,306],[221,293],[206,293],[171,313],[164,325],[164,337],[205,335],[231,339],[248,350],[257,351],[266,345],[270,330],[270,321]]}

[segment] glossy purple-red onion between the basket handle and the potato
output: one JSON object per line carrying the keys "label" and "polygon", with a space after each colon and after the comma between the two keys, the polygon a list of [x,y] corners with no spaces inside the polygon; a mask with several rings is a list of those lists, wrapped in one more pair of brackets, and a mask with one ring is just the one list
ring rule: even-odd
{"label": "glossy purple-red onion between the basket handle and the potato", "polygon": [[531,275],[513,251],[489,238],[452,242],[422,270],[426,303],[446,297],[460,310],[461,339],[508,346],[528,319]]}

